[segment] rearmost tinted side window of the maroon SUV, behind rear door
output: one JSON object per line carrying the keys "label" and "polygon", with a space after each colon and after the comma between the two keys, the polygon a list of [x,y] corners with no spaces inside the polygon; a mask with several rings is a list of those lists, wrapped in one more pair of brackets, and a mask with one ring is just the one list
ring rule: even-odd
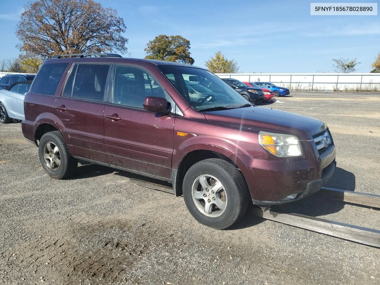
{"label": "rearmost tinted side window of the maroon SUV, behind rear door", "polygon": [[45,64],[34,79],[32,92],[54,96],[67,66],[65,62]]}

